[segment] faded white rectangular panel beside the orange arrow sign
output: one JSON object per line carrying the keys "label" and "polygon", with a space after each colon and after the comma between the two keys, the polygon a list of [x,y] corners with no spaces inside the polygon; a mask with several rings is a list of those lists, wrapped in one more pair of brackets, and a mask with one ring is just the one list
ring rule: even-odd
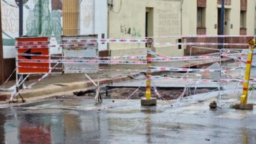
{"label": "faded white rectangular panel beside the orange arrow sign", "polygon": [[63,73],[97,73],[97,39],[98,35],[62,36]]}

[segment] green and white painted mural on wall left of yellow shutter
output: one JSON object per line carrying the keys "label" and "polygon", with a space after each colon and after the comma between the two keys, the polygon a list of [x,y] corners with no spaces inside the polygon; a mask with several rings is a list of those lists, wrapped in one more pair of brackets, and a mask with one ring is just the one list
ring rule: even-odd
{"label": "green and white painted mural on wall left of yellow shutter", "polygon": [[[1,0],[4,57],[14,58],[19,32],[18,0]],[[56,37],[62,35],[62,0],[24,0],[23,35]]]}

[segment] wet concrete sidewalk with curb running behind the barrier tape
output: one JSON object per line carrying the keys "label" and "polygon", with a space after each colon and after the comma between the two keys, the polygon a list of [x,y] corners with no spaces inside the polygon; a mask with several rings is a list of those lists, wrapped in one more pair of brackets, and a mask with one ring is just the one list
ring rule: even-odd
{"label": "wet concrete sidewalk with curb running behind the barrier tape", "polygon": [[[211,63],[219,62],[219,60],[200,60],[190,63],[190,67],[204,67]],[[162,65],[169,67],[188,67],[188,62],[170,62],[170,63],[154,63],[154,65]],[[137,75],[140,72],[146,72],[146,65],[104,65],[100,69],[112,69],[113,71],[100,71],[100,84],[113,84],[121,81],[131,80],[129,75]],[[137,69],[138,71],[118,71],[118,69]],[[95,73],[88,74],[91,79],[96,82],[97,75]],[[33,77],[33,76],[31,76]],[[38,77],[38,76],[37,76]],[[37,80],[26,81],[28,86]],[[9,81],[6,86],[13,86],[15,81]],[[72,94],[75,90],[81,90],[94,86],[84,74],[51,74],[43,81],[37,82],[31,89],[22,90],[23,98],[35,98],[40,96],[56,96],[60,94]],[[5,95],[10,98],[11,92],[0,91],[0,96]],[[0,100],[1,101],[1,100]],[[2,102],[3,101],[2,99]]]}

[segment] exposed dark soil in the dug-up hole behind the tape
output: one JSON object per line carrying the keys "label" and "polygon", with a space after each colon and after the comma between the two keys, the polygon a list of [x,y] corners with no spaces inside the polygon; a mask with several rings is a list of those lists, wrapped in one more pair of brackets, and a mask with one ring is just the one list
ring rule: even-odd
{"label": "exposed dark soil in the dug-up hole behind the tape", "polygon": [[[140,99],[145,96],[145,88],[140,88],[135,92],[137,88],[111,88],[102,90],[101,95],[104,99]],[[196,94],[202,94],[206,92],[211,92],[211,88],[198,88],[196,89]],[[169,88],[161,89],[158,88],[158,93],[162,96],[163,99],[171,100],[177,99],[181,96],[183,88]],[[135,94],[133,94],[135,92]],[[93,99],[95,97],[95,90],[87,90],[81,92],[74,92],[78,96],[74,95],[64,95],[64,96],[53,96],[50,99]],[[133,96],[131,96],[133,94]],[[190,88],[190,92],[185,93],[184,97],[194,95],[194,88]],[[152,91],[152,97],[160,99],[155,92]]]}

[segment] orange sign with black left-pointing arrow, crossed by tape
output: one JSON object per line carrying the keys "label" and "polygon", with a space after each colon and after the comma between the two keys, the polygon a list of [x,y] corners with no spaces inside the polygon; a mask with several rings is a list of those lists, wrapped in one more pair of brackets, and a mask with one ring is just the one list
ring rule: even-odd
{"label": "orange sign with black left-pointing arrow, crossed by tape", "polygon": [[22,37],[16,39],[16,67],[19,74],[48,73],[50,63],[32,60],[49,60],[47,37]]}

